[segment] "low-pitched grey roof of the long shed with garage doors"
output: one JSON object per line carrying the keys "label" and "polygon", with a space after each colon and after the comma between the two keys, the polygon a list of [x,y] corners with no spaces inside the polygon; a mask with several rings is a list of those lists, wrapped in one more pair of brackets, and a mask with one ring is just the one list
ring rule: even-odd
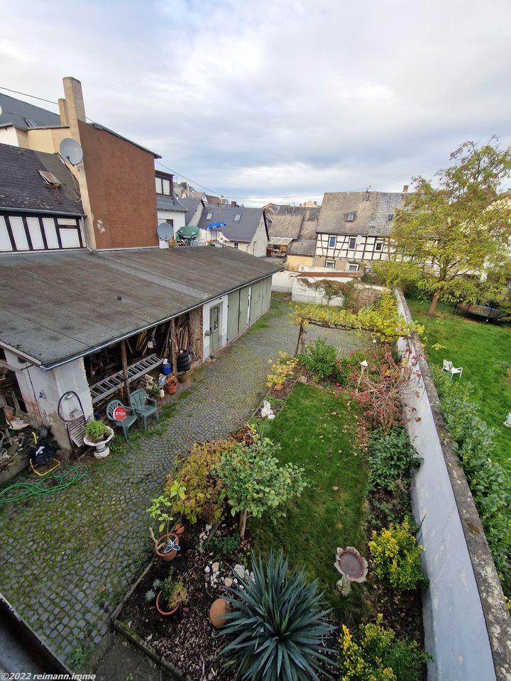
{"label": "low-pitched grey roof of the long shed with garage doors", "polygon": [[0,255],[0,345],[50,369],[279,270],[207,246]]}

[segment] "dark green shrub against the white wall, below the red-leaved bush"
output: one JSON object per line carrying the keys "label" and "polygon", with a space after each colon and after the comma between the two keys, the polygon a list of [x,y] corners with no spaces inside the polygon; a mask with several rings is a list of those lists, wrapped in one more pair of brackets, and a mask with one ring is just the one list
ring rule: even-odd
{"label": "dark green shrub against the white wall, below the red-leaved bush", "polygon": [[395,426],[385,433],[373,431],[369,438],[369,485],[392,491],[397,480],[410,477],[410,469],[418,468],[420,460],[414,456],[406,428]]}

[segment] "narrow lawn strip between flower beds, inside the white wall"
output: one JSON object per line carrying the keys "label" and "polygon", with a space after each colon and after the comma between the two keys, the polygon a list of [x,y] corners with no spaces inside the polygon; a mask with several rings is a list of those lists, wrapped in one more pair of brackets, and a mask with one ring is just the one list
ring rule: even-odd
{"label": "narrow lawn strip between flower beds, inside the white wall", "polygon": [[[357,412],[320,388],[297,384],[271,422],[267,436],[280,443],[282,463],[304,467],[311,483],[292,502],[285,518],[251,521],[255,553],[282,548],[293,567],[318,579],[331,605],[341,611],[360,607],[353,588],[349,599],[336,593],[341,577],[334,567],[338,546],[366,550],[366,457],[358,445]],[[333,487],[339,487],[334,490]]]}

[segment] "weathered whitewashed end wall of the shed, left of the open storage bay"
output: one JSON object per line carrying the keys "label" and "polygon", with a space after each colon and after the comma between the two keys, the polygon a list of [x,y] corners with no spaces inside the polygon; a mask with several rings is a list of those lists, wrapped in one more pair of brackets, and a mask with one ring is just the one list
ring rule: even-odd
{"label": "weathered whitewashed end wall of the shed, left of the open storage bay", "polygon": [[59,445],[69,448],[66,424],[60,419],[57,407],[60,397],[72,390],[82,402],[85,418],[92,416],[92,402],[83,359],[68,362],[52,371],[43,371],[28,362],[21,364],[9,350],[5,350],[5,353],[9,368],[16,372],[31,425],[49,426]]}

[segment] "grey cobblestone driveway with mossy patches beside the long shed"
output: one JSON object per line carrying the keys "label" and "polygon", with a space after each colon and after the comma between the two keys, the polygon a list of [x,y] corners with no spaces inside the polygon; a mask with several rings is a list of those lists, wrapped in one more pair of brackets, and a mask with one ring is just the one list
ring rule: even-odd
{"label": "grey cobblestone driveway with mossy patches beside the long shed", "polygon": [[[251,331],[195,372],[175,413],[150,438],[116,448],[103,462],[89,460],[88,477],[75,487],[0,506],[0,590],[68,664],[99,643],[148,563],[146,509],[175,456],[243,425],[265,392],[268,360],[294,352],[289,312],[274,295]],[[354,332],[317,328],[307,338],[319,335],[346,351],[364,344]]]}

